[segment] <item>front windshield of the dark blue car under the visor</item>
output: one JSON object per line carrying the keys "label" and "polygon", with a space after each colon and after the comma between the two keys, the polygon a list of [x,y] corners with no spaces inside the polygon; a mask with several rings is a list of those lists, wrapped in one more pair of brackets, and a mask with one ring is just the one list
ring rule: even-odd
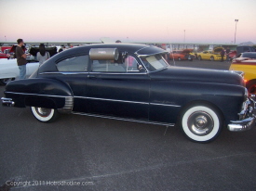
{"label": "front windshield of the dark blue car under the visor", "polygon": [[162,70],[168,67],[166,60],[161,55],[141,57],[141,61],[149,71]]}

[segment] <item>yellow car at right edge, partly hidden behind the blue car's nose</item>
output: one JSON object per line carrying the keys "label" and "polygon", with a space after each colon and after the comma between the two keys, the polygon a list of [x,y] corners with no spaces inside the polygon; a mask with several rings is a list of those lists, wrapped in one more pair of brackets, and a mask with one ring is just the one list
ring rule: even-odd
{"label": "yellow car at right edge, partly hidden behind the blue car's nose", "polygon": [[256,94],[256,59],[238,57],[233,60],[229,70],[243,71],[249,94]]}

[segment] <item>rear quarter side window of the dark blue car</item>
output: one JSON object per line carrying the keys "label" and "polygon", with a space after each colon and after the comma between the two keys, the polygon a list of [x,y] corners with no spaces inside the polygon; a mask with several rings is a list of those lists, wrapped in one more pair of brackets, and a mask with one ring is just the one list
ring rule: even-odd
{"label": "rear quarter side window of the dark blue car", "polygon": [[59,71],[88,71],[88,55],[69,57],[57,64]]}

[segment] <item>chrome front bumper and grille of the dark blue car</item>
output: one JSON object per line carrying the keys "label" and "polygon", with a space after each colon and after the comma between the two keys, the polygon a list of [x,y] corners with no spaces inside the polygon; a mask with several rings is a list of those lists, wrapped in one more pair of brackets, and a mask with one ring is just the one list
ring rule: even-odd
{"label": "chrome front bumper and grille of the dark blue car", "polygon": [[255,108],[255,101],[253,100],[254,96],[248,98],[244,102],[243,108],[239,115],[239,121],[230,121],[231,123],[227,125],[227,128],[231,132],[243,132],[251,129],[255,126],[256,118],[253,114]]}

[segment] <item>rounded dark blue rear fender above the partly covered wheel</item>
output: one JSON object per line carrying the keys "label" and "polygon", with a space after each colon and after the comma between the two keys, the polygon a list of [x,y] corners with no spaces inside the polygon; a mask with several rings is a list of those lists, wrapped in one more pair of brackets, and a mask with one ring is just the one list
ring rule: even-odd
{"label": "rounded dark blue rear fender above the partly covered wheel", "polygon": [[63,112],[73,109],[73,92],[61,81],[46,78],[26,79],[7,83],[7,98],[12,98],[14,107],[58,108]]}

